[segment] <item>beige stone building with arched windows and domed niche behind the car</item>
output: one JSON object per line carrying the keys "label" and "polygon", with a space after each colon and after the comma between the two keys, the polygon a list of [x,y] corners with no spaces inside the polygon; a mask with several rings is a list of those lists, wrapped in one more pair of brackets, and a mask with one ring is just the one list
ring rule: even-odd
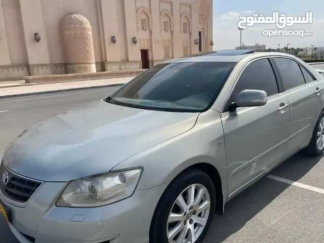
{"label": "beige stone building with arched windows and domed niche behind the car", "polygon": [[212,16],[213,0],[0,0],[0,80],[211,51]]}

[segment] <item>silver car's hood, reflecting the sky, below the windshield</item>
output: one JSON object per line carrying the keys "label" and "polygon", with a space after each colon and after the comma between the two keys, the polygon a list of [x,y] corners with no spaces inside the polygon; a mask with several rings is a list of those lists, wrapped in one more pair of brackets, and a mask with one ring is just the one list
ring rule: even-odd
{"label": "silver car's hood, reflecting the sky, below the windshield", "polygon": [[25,130],[7,148],[4,163],[17,174],[51,182],[105,173],[191,129],[197,116],[96,101]]}

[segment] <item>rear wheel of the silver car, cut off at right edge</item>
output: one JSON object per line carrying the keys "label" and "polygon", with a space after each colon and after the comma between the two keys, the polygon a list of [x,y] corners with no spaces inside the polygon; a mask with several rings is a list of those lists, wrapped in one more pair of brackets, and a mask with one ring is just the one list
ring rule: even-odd
{"label": "rear wheel of the silver car, cut off at right edge", "polygon": [[305,152],[309,156],[319,156],[324,151],[324,111],[319,114],[314,127],[313,135]]}

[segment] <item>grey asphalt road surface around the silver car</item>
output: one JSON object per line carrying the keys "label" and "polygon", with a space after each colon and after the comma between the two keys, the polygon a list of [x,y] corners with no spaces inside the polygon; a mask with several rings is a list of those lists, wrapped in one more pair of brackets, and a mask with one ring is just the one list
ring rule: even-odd
{"label": "grey asphalt road surface around the silver car", "polygon": [[[0,156],[32,124],[106,97],[115,89],[0,99]],[[318,189],[324,189],[323,160],[297,154],[270,174],[303,184],[261,179],[229,201],[223,216],[215,215],[204,243],[324,242],[324,194]],[[18,243],[2,218],[0,242]]]}

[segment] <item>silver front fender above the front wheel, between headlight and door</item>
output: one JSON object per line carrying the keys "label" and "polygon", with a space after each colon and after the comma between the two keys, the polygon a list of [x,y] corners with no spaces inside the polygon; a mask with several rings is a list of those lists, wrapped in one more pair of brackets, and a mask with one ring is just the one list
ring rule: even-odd
{"label": "silver front fender above the front wheel, between headlight and door", "polygon": [[198,116],[189,131],[122,161],[112,170],[143,167],[138,189],[146,190],[172,181],[190,166],[208,163],[219,172],[227,196],[227,166],[220,113],[211,110]]}

